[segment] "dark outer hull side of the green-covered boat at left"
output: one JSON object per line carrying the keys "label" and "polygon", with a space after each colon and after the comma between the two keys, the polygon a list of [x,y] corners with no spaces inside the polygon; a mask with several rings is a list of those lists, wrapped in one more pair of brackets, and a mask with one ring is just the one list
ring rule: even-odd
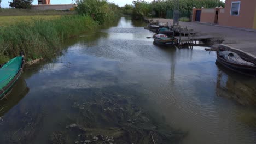
{"label": "dark outer hull side of the green-covered boat at left", "polygon": [[24,68],[24,62],[25,62],[24,58],[22,58],[21,67],[20,67],[20,70],[18,71],[18,73],[15,75],[13,80],[11,80],[3,89],[1,89],[1,91],[0,91],[0,100],[2,100],[6,95],[9,94],[9,92],[11,91],[11,88],[13,87],[14,83],[19,79],[19,77],[20,77],[20,75],[23,71],[23,68]]}

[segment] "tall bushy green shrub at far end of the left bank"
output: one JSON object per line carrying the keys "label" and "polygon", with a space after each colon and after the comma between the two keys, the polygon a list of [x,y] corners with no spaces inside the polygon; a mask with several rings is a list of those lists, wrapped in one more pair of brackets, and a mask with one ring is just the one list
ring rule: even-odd
{"label": "tall bushy green shrub at far end of the left bank", "polygon": [[107,2],[107,0],[76,0],[75,2],[79,14],[91,16],[100,24],[119,18],[119,7],[114,3]]}

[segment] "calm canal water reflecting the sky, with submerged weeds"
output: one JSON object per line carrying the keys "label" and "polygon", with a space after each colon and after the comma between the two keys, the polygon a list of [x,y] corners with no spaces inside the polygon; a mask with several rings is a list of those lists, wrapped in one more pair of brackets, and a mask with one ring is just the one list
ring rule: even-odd
{"label": "calm canal water reflecting the sky, with submerged weeds", "polygon": [[[256,79],[159,47],[143,22],[67,40],[0,105],[0,143],[256,143]],[[153,138],[153,139],[152,139]]]}

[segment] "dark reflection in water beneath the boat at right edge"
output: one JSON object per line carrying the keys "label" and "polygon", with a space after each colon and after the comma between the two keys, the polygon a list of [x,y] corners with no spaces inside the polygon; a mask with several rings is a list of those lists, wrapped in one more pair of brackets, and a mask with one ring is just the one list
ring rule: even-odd
{"label": "dark reflection in water beneath the boat at right edge", "polygon": [[217,76],[216,93],[220,97],[236,100],[242,105],[256,105],[255,88],[224,75],[220,70]]}

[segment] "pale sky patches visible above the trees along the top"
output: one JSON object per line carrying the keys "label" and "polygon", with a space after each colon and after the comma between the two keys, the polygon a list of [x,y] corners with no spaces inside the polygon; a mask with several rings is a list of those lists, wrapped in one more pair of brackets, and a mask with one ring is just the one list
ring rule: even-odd
{"label": "pale sky patches visible above the trees along the top", "polygon": [[[9,3],[11,0],[2,0],[1,7],[7,8],[9,7]],[[132,0],[108,0],[109,2],[114,2],[119,6],[124,6],[125,4],[132,4]],[[150,0],[147,0],[150,1]],[[51,4],[71,4],[72,0],[51,0]],[[37,4],[37,0],[34,0],[33,4]]]}

